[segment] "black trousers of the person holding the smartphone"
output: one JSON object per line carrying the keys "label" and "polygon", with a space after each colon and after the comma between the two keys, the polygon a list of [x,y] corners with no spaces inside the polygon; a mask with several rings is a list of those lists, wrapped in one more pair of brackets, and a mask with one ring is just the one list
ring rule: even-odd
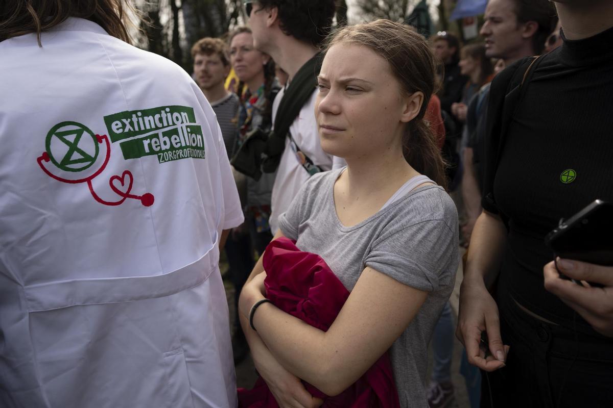
{"label": "black trousers of the person holding the smartphone", "polygon": [[481,372],[481,407],[613,407],[613,338],[547,324],[509,297],[498,306],[511,349],[504,368]]}

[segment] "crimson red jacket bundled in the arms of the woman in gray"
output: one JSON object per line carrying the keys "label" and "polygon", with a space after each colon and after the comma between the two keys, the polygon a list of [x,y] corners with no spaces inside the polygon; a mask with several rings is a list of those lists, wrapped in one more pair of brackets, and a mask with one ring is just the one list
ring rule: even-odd
{"label": "crimson red jacket bundled in the arms of the woman in gray", "polygon": [[[264,269],[267,298],[281,310],[320,330],[328,330],[349,297],[349,291],[319,255],[300,251],[284,237],[266,248]],[[337,396],[326,396],[310,384],[305,387],[311,395],[324,400],[322,407],[399,407],[387,353]],[[278,407],[261,378],[252,390],[238,390],[238,404],[251,408]]]}

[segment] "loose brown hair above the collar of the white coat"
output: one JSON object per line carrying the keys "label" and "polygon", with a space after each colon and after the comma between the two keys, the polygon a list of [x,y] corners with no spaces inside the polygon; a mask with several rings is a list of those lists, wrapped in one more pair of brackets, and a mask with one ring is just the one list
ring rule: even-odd
{"label": "loose brown hair above the collar of the white coat", "polygon": [[18,35],[40,33],[63,23],[69,17],[80,17],[99,24],[113,37],[130,43],[128,27],[137,29],[129,19],[140,12],[126,0],[2,0],[0,7],[0,41]]}

